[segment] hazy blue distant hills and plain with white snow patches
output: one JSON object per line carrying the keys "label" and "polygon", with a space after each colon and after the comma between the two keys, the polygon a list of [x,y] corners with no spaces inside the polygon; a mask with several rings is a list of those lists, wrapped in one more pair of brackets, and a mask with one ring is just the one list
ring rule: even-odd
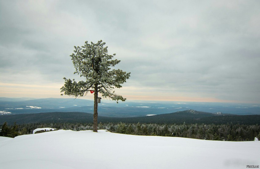
{"label": "hazy blue distant hills and plain with white snow patches", "polygon": [[[260,105],[238,103],[202,103],[174,101],[125,101],[102,99],[98,115],[108,117],[140,117],[149,114],[167,114],[193,109],[200,112],[236,115],[260,115]],[[74,98],[6,98],[0,97],[0,116],[42,112],[93,113],[93,101]]]}

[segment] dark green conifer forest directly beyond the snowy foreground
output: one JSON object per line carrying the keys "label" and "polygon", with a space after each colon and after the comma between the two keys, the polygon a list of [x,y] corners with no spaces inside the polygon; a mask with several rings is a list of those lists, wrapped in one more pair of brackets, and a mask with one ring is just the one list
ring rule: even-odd
{"label": "dark green conifer forest directly beyond the snowy foreground", "polygon": [[[32,134],[36,128],[56,128],[58,130],[93,130],[93,123],[7,123],[0,125],[0,136],[16,137],[23,134]],[[204,140],[220,141],[253,141],[260,138],[260,125],[244,124],[159,124],[159,123],[102,123],[98,124],[98,130],[105,129],[110,132],[133,135],[151,135],[184,137]]]}

